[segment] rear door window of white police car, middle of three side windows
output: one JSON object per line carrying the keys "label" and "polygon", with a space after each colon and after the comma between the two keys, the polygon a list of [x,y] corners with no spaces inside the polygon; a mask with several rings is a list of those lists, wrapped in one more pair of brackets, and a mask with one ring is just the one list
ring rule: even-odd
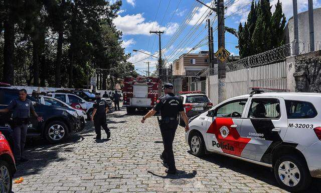
{"label": "rear door window of white police car, middle of three side windows", "polygon": [[249,118],[278,119],[280,115],[278,99],[252,99]]}

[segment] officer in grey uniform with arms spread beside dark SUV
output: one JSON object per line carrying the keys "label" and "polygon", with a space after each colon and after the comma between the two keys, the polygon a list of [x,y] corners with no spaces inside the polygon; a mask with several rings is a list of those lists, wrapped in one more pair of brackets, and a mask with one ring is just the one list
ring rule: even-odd
{"label": "officer in grey uniform with arms spread beside dark SUV", "polygon": [[14,155],[16,161],[25,162],[28,159],[23,157],[23,152],[26,144],[27,129],[30,123],[30,112],[37,118],[37,120],[43,121],[42,117],[39,117],[34,109],[32,102],[27,99],[27,90],[19,90],[19,98],[10,102],[7,109],[0,110],[0,113],[8,113],[13,110],[13,124],[14,129]]}

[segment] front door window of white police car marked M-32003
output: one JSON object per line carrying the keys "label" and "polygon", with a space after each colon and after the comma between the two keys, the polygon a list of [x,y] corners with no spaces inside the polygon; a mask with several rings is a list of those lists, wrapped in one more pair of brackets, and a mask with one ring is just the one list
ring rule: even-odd
{"label": "front door window of white police car marked M-32003", "polygon": [[223,104],[216,109],[216,117],[242,117],[244,107],[247,99],[240,99],[236,101]]}

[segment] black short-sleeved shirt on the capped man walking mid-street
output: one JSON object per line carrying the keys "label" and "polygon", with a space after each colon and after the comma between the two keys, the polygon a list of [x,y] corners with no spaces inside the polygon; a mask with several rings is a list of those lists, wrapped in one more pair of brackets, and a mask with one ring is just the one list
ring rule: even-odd
{"label": "black short-sleeved shirt on the capped man walking mid-street", "polygon": [[167,93],[157,100],[153,110],[160,111],[162,118],[177,118],[179,112],[184,111],[184,107],[178,96],[173,93]]}

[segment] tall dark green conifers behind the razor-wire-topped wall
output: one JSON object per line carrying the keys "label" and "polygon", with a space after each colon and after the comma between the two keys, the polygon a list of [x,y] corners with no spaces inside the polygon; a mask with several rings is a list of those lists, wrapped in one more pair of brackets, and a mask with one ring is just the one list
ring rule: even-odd
{"label": "tall dark green conifers behind the razor-wire-topped wall", "polygon": [[240,57],[258,54],[284,44],[284,27],[286,19],[282,5],[278,1],[275,12],[271,13],[269,0],[252,0],[247,22],[239,26],[238,36]]}

